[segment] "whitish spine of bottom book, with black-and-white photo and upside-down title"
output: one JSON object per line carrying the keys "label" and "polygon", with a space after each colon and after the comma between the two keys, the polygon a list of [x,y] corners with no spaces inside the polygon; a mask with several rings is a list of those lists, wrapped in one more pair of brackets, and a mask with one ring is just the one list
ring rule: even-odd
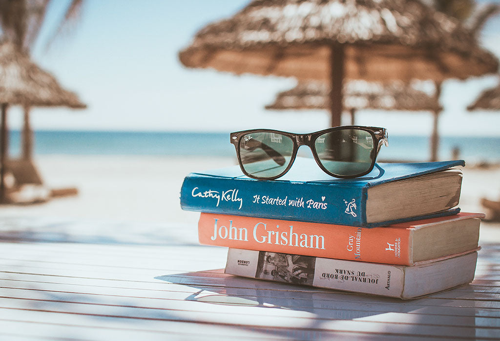
{"label": "whitish spine of bottom book, with black-and-white photo and upside-down title", "polygon": [[404,288],[400,266],[232,248],[225,273],[398,298]]}

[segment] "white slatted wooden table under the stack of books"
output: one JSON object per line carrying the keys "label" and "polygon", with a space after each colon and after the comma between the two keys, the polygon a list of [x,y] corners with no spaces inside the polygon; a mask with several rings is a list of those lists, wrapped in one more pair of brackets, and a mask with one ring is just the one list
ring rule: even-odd
{"label": "white slatted wooden table under the stack of books", "polygon": [[224,275],[195,226],[0,220],[0,340],[500,339],[500,246],[401,301]]}

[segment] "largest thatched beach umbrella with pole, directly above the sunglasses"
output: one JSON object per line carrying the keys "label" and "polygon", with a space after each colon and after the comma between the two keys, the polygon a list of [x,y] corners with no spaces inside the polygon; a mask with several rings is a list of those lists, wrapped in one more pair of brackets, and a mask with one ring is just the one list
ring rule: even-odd
{"label": "largest thatched beach umbrella with pole, directly above the sunglasses", "polygon": [[417,0],[254,0],[198,31],[187,67],[319,80],[340,124],[344,79],[465,79],[497,71],[460,24]]}

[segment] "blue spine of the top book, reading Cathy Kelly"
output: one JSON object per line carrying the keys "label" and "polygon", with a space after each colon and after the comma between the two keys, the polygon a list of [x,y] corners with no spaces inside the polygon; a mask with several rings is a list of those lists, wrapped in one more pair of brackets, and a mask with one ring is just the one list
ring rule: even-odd
{"label": "blue spine of the top book, reading Cathy Kelly", "polygon": [[349,226],[366,225],[365,200],[365,189],[360,186],[197,174],[185,177],[180,192],[185,210]]}

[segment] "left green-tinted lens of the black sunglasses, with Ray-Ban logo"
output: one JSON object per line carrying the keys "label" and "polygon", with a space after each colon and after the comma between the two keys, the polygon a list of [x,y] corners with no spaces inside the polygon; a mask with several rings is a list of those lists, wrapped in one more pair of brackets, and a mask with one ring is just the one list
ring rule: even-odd
{"label": "left green-tinted lens of the black sunglasses, with Ray-Ban logo", "polygon": [[250,133],[239,141],[241,166],[250,175],[275,177],[286,170],[293,153],[293,141],[276,133]]}

